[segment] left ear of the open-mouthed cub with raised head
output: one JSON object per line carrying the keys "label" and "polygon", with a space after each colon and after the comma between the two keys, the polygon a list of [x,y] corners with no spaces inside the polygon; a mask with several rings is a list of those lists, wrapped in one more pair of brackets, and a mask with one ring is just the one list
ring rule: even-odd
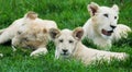
{"label": "left ear of the open-mouthed cub with raised head", "polygon": [[91,2],[90,4],[87,5],[87,9],[90,12],[90,15],[94,16],[98,11],[99,5],[95,2]]}

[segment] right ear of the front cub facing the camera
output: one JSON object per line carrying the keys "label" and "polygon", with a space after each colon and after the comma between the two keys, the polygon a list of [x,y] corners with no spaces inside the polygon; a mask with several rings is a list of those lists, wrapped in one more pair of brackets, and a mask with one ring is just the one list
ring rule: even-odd
{"label": "right ear of the front cub facing the camera", "polygon": [[81,37],[84,35],[84,29],[81,27],[77,27],[74,29],[73,32],[73,36],[75,37],[75,39],[77,40],[81,40]]}

